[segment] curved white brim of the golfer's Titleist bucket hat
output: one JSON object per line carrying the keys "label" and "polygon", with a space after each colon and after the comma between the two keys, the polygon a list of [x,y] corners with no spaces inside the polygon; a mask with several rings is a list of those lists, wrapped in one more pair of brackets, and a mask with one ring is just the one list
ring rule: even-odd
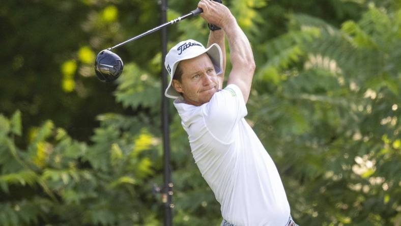
{"label": "curved white brim of the golfer's Titleist bucket hat", "polygon": [[173,81],[174,73],[176,72],[177,66],[180,63],[180,61],[196,58],[196,56],[202,55],[204,53],[207,53],[210,57],[210,60],[212,61],[216,74],[221,74],[222,73],[222,68],[223,68],[223,54],[221,52],[220,46],[216,43],[213,43],[209,48],[205,49],[205,51],[198,52],[196,55],[189,55],[186,58],[180,59],[173,64],[173,68],[171,69],[171,74],[170,74],[170,80],[168,82],[168,86],[166,91],[164,92],[164,95],[168,98],[173,98],[176,99],[181,96],[179,92],[177,92],[173,86],[171,86],[171,81]]}

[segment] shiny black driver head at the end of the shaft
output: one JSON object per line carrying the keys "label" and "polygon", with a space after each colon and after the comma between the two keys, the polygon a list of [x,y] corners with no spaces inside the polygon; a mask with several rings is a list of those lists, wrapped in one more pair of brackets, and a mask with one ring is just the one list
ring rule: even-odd
{"label": "shiny black driver head at the end of the shaft", "polygon": [[123,61],[116,53],[104,49],[96,56],[95,71],[101,81],[111,82],[116,80],[123,72]]}

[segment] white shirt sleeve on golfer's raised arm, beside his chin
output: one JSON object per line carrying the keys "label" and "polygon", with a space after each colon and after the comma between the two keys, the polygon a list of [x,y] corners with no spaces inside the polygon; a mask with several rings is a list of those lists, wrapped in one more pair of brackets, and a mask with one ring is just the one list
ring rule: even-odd
{"label": "white shirt sleeve on golfer's raised arm, beside his chin", "polygon": [[248,114],[242,92],[235,84],[215,93],[203,113],[206,127],[223,143],[231,142],[232,131]]}

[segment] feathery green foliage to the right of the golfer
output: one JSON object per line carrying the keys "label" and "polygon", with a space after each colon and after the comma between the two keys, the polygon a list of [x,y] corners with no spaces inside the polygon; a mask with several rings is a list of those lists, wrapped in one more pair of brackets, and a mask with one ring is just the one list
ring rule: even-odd
{"label": "feathery green foliage to the right of the golfer", "polygon": [[249,119],[301,224],[399,222],[398,13],[369,5],[341,29],[293,14],[264,46]]}

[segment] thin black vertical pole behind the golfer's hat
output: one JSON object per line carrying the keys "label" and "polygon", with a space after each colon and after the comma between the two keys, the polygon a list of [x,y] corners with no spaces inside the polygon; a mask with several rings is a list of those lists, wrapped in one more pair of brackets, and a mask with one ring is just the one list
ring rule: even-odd
{"label": "thin black vertical pole behind the golfer's hat", "polygon": [[[167,20],[167,0],[161,0],[161,23],[165,23]],[[170,134],[169,134],[169,122],[168,122],[168,99],[164,96],[164,90],[167,88],[167,71],[164,68],[164,59],[167,54],[167,28],[161,29],[161,75],[162,75],[162,127],[163,127],[163,159],[164,159],[164,176],[163,176],[163,193],[162,201],[164,203],[164,226],[173,225],[173,217],[171,216],[171,171],[170,171]]]}

